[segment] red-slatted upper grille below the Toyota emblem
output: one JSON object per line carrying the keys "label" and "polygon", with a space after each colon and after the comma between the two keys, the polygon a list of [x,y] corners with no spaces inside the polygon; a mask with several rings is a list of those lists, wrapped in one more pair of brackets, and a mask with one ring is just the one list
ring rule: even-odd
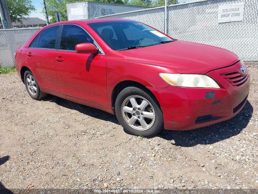
{"label": "red-slatted upper grille below the Toyota emblem", "polygon": [[223,74],[220,74],[220,76],[235,88],[240,88],[248,80],[247,72],[244,76],[238,73],[238,71],[223,73]]}

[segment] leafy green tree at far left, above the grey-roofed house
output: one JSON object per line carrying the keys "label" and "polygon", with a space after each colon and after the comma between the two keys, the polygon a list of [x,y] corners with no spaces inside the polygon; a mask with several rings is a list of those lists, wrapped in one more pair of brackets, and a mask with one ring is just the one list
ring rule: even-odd
{"label": "leafy green tree at far left, above the grey-roofed house", "polygon": [[[6,0],[7,8],[12,22],[20,22],[21,19],[30,15],[36,8],[31,4],[31,0]],[[1,23],[1,21],[0,21]]]}

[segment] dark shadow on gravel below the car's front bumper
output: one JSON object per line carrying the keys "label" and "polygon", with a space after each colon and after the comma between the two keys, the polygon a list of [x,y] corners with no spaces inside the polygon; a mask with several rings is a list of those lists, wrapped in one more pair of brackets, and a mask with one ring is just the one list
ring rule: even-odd
{"label": "dark shadow on gravel below the car's front bumper", "polygon": [[163,130],[158,136],[174,140],[172,144],[181,147],[213,144],[238,135],[247,126],[252,115],[253,106],[247,101],[241,112],[230,120],[188,131]]}

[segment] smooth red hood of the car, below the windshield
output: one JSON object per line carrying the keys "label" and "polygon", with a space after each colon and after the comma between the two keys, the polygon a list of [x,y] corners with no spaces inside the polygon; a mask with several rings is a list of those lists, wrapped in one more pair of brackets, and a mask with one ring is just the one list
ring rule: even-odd
{"label": "smooth red hood of the car, below the windshield", "polygon": [[120,52],[127,60],[160,66],[170,73],[205,74],[240,60],[223,48],[181,40]]}

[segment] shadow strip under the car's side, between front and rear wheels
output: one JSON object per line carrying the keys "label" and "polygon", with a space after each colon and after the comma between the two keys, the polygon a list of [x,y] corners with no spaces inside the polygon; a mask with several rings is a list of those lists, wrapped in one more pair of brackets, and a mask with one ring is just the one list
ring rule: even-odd
{"label": "shadow strip under the car's side, between front and rear wheels", "polygon": [[110,121],[110,122],[115,123],[115,124],[119,124],[116,116],[113,115],[113,114],[110,114],[108,112],[102,111],[102,110],[97,109],[97,108],[93,108],[93,107],[90,107],[90,106],[78,104],[76,102],[72,102],[72,101],[66,100],[64,98],[60,98],[60,97],[51,95],[51,94],[48,94],[47,97],[42,99],[42,101],[53,102],[53,103],[56,103],[59,106],[62,106],[62,107],[65,107],[65,108],[68,108],[68,109],[71,109],[71,110],[76,110],[76,111],[81,112],[85,115],[95,117],[97,119],[101,119],[101,120],[105,120],[105,121]]}

